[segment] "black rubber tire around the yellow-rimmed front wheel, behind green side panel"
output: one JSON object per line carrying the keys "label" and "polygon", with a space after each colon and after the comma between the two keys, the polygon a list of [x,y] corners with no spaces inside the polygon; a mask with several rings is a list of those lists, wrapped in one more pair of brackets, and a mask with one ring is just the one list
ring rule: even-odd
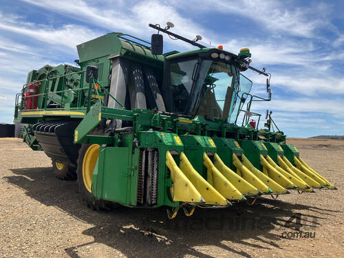
{"label": "black rubber tire around the yellow-rimmed front wheel, behind green side panel", "polygon": [[[105,200],[96,200],[96,198],[92,195],[91,191],[89,191],[89,186],[85,185],[84,178],[83,178],[83,160],[85,157],[85,154],[89,147],[93,146],[94,144],[82,144],[81,148],[79,149],[79,156],[77,161],[77,175],[78,175],[78,186],[79,186],[79,192],[83,196],[83,201],[89,208],[92,208],[93,210],[99,211],[99,210],[107,210],[111,211],[118,204],[114,202],[109,202]],[[92,147],[94,148],[94,147]],[[89,155],[89,154],[87,154]],[[97,157],[98,158],[98,157]]]}

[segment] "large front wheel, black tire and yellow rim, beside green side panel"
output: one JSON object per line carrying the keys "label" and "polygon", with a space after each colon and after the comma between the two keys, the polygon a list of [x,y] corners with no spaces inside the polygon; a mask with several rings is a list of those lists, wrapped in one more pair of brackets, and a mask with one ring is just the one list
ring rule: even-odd
{"label": "large front wheel, black tire and yellow rim, beside green side panel", "polygon": [[79,191],[89,208],[94,210],[112,210],[116,207],[113,202],[96,200],[92,195],[92,175],[99,155],[99,144],[82,144],[77,161]]}

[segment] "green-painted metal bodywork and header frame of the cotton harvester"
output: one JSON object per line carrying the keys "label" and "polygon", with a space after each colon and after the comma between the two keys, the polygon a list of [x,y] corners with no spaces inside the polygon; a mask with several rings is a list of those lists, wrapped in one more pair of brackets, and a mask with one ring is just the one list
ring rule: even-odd
{"label": "green-painted metal bodywork and header frame of the cotton harvester", "polygon": [[[35,92],[37,109],[24,110],[25,100],[22,98],[20,101],[18,96],[14,109],[14,122],[29,124],[29,131],[24,133],[25,141],[32,149],[40,149],[38,142],[30,132],[32,125],[48,120],[79,120],[80,124],[75,132],[70,132],[70,136],[75,133],[74,142],[101,145],[92,184],[92,193],[98,200],[109,200],[130,207],[179,207],[180,202],[173,202],[170,194],[172,182],[170,171],[166,166],[166,151],[171,152],[177,164],[180,163],[180,153],[184,151],[195,170],[206,179],[206,168],[203,165],[204,153],[207,153],[211,160],[217,153],[233,170],[235,170],[233,153],[236,155],[245,153],[252,164],[260,169],[259,155],[271,153],[272,158],[275,159],[279,154],[278,145],[275,142],[285,142],[283,133],[257,131],[252,127],[245,126],[239,127],[219,118],[209,120],[197,114],[191,118],[191,116],[183,115],[183,117],[155,110],[114,109],[106,107],[104,104],[107,98],[111,98],[109,96],[109,74],[114,58],[123,58],[142,66],[149,66],[153,69],[161,90],[164,87],[172,87],[169,84],[170,61],[186,60],[192,57],[202,63],[204,60],[213,58],[211,53],[217,52],[230,56],[231,61],[228,61],[226,65],[239,67],[237,63],[239,57],[235,54],[205,47],[189,52],[171,52],[155,56],[151,54],[148,42],[122,33],[100,36],[78,45],[77,49],[80,59],[78,66],[80,67],[45,65],[28,74],[27,83],[19,96],[28,93],[29,83],[38,81],[40,83],[39,92]],[[249,56],[249,54],[249,52],[242,52],[240,55]],[[221,60],[217,58],[217,61]],[[91,83],[86,83],[86,68],[89,65],[98,67],[96,82],[92,78]],[[191,79],[196,81],[199,75],[200,71],[195,68],[195,74]],[[215,78],[216,74],[212,76],[211,83],[216,83]],[[211,83],[204,83],[201,87],[206,88]],[[96,87],[96,84],[99,87]],[[235,87],[238,85],[235,84]],[[162,94],[164,94],[163,91]],[[104,100],[100,100],[99,97],[103,96]],[[166,98],[166,96],[164,97]],[[127,107],[127,105],[125,106]],[[32,114],[28,115],[28,111],[31,111]],[[69,113],[63,113],[67,111]],[[89,134],[96,127],[105,129],[105,122],[114,119],[128,121],[129,125],[133,127],[132,133],[116,132],[111,136]],[[267,150],[258,141],[259,136],[270,141],[266,142]],[[134,141],[138,142],[138,147],[133,146]],[[290,153],[299,155],[291,145],[281,144],[281,147],[288,159],[292,157]],[[145,199],[147,193],[153,191],[153,184],[151,181],[147,181],[148,171],[144,171],[142,174],[142,164],[145,164],[144,168],[147,169],[149,162],[153,161],[149,158],[143,159],[143,153],[146,153],[147,157],[154,155],[156,163],[150,167],[153,168],[156,165],[158,171],[156,202],[153,204],[149,204]],[[142,175],[144,175],[144,181],[140,178]],[[144,185],[143,195],[138,189],[142,184]],[[144,196],[143,202],[139,198],[141,196]]]}

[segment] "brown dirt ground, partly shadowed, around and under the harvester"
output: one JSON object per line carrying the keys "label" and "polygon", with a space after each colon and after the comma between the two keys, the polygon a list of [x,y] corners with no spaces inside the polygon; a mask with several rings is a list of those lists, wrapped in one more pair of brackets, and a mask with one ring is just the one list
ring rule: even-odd
{"label": "brown dirt ground, partly shadowed, around and under the harvester", "polygon": [[344,141],[288,142],[338,190],[170,220],[164,208],[91,211],[43,152],[0,139],[0,257],[344,257]]}

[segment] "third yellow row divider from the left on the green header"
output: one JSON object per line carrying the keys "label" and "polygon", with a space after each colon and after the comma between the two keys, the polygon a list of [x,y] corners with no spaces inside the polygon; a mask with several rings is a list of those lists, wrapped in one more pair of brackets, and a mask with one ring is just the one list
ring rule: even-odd
{"label": "third yellow row divider from the left on the green header", "polygon": [[213,185],[222,196],[228,200],[246,200],[244,195],[218,171],[206,153],[203,153],[203,164],[207,169],[208,183]]}

